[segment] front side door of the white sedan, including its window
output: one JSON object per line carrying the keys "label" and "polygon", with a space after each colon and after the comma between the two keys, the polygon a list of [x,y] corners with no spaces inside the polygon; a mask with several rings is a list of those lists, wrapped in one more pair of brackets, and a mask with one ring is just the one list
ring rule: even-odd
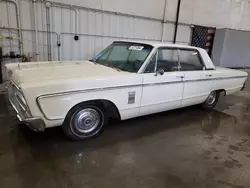
{"label": "front side door of the white sedan, including its window", "polygon": [[178,69],[177,49],[159,48],[143,73],[140,116],[180,107],[184,73]]}

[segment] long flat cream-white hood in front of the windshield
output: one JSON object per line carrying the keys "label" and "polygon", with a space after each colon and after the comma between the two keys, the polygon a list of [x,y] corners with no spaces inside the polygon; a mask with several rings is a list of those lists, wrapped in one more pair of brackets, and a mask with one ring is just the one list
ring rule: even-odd
{"label": "long flat cream-white hood in front of the windshield", "polygon": [[8,76],[16,84],[64,80],[72,78],[100,78],[133,74],[90,61],[30,62],[6,65]]}

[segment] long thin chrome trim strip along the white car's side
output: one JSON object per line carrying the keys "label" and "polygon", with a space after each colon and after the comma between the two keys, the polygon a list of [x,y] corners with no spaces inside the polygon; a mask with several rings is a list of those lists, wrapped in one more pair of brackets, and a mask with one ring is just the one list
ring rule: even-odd
{"label": "long thin chrome trim strip along the white car's side", "polygon": [[43,98],[49,97],[57,97],[62,95],[70,95],[76,93],[87,93],[87,92],[95,92],[95,91],[104,91],[104,90],[113,90],[113,89],[121,89],[121,88],[133,88],[133,87],[144,87],[144,86],[154,86],[154,85],[166,85],[166,84],[176,84],[176,83],[185,83],[185,82],[200,82],[200,81],[210,81],[210,80],[224,80],[224,79],[235,79],[235,78],[247,78],[247,76],[235,76],[235,77],[222,77],[222,78],[207,78],[207,79],[193,79],[193,80],[179,80],[179,81],[172,81],[172,82],[160,82],[160,83],[150,83],[150,84],[135,84],[135,85],[124,85],[124,86],[114,86],[114,87],[107,87],[107,88],[94,88],[94,89],[86,89],[86,90],[74,90],[74,91],[65,91],[61,93],[51,93],[51,94],[44,94],[40,95],[36,98],[36,103],[43,114],[44,118],[49,121],[53,120],[62,120],[64,118],[54,118],[51,119],[46,116],[45,112],[43,111],[40,100]]}

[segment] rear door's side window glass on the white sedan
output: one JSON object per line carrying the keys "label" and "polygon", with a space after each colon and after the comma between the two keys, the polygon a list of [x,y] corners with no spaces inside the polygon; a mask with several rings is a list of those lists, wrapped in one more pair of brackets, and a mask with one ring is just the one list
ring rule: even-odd
{"label": "rear door's side window glass on the white sedan", "polygon": [[203,70],[199,53],[195,50],[180,50],[180,67],[181,71]]}

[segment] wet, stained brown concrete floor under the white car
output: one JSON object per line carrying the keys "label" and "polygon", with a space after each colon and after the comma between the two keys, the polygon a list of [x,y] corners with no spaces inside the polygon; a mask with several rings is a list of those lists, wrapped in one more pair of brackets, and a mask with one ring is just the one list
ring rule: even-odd
{"label": "wet, stained brown concrete floor under the white car", "polygon": [[215,110],[116,122],[82,142],[31,132],[0,101],[0,188],[250,187],[250,82]]}

